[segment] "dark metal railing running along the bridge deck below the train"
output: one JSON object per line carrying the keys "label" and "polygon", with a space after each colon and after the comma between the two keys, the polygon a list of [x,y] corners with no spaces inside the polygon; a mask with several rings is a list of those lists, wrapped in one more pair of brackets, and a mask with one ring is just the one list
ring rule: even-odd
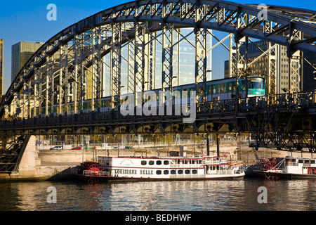
{"label": "dark metal railing running along the bridge deck below the train", "polygon": [[[207,114],[212,115],[225,113],[251,113],[251,112],[264,112],[269,110],[289,110],[289,109],[302,109],[302,108],[316,108],[316,96],[315,91],[299,92],[294,94],[284,93],[274,96],[258,96],[251,98],[229,99],[222,101],[208,101],[204,103],[197,103],[196,113],[197,115]],[[165,106],[166,107],[166,106]],[[177,106],[178,107],[178,106]],[[190,104],[187,104],[187,110],[192,110]],[[44,124],[91,124],[91,122],[100,121],[114,121],[114,120],[138,120],[138,118],[153,118],[159,117],[159,108],[156,115],[122,115],[119,110],[112,110],[108,112],[91,112],[91,113],[79,113],[58,116],[38,116],[30,119],[15,118],[15,120],[0,120],[0,127],[2,130],[7,127],[39,127]],[[165,109],[166,112],[166,109]],[[170,113],[170,112],[169,112]],[[176,114],[177,113],[177,114]],[[183,117],[179,115],[179,108],[173,105],[172,115]],[[191,112],[192,113],[192,112]]]}

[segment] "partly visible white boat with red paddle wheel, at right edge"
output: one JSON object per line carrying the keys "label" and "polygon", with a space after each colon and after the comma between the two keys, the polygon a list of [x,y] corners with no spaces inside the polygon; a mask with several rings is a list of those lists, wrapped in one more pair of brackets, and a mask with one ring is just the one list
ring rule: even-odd
{"label": "partly visible white boat with red paddle wheel, at right edge", "polygon": [[316,179],[316,160],[312,158],[261,158],[254,172],[267,179]]}

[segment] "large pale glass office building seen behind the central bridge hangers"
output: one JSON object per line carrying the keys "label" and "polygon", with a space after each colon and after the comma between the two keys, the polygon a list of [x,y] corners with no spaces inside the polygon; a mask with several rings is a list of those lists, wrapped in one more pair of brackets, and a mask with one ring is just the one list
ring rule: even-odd
{"label": "large pale glass office building seen behind the central bridge hangers", "polygon": [[[173,41],[173,86],[195,83],[195,33],[193,28],[181,28],[178,40]],[[212,32],[209,30],[209,33]],[[149,89],[162,88],[162,31],[152,34],[152,41],[147,39],[145,44],[145,91]],[[180,41],[180,42],[178,42]],[[211,80],[212,70],[212,36],[207,35],[207,62],[206,79]],[[131,93],[128,91],[129,85],[133,86],[133,76],[135,72],[133,61],[133,41],[122,45],[121,49],[121,94]],[[130,56],[131,55],[131,56]],[[110,96],[110,53],[104,56],[103,61],[103,96]],[[167,63],[168,64],[168,63]],[[154,70],[154,71],[152,71]],[[149,77],[152,75],[152,77]],[[146,77],[148,76],[148,77]]]}

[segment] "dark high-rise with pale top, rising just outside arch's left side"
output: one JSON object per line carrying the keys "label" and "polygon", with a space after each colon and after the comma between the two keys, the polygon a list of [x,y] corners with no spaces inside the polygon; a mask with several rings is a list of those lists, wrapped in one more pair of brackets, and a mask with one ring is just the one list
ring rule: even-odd
{"label": "dark high-rise with pale top, rising just outside arch's left side", "polygon": [[22,69],[23,65],[27,63],[27,60],[34,54],[37,49],[42,45],[43,43],[40,42],[24,42],[21,41],[17,44],[14,44],[12,46],[12,70],[11,70],[11,82],[15,79],[16,75],[18,75],[18,72]]}

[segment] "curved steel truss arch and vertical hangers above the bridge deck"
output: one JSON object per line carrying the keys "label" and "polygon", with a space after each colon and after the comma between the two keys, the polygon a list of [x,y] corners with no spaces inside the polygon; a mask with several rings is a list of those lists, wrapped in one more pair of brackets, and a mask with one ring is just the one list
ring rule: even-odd
{"label": "curved steel truss arch and vertical hangers above the bridge deck", "polygon": [[[102,11],[62,30],[34,53],[0,103],[0,116],[2,120],[29,122],[33,119],[39,122],[38,117],[46,117],[42,119],[48,121],[55,115],[66,117],[89,113],[84,111],[87,104],[91,104],[91,111],[99,112],[104,106],[100,99],[107,95],[111,97],[110,108],[118,109],[123,89],[122,63],[128,65],[126,91],[135,94],[136,104],[143,105],[143,99],[139,96],[143,97],[146,90],[160,85],[154,80],[159,75],[156,73],[157,51],[153,50],[160,35],[162,90],[172,91],[173,86],[179,84],[180,29],[185,27],[194,28],[195,89],[197,102],[205,103],[204,113],[210,110],[206,103],[206,53],[209,51],[206,39],[211,34],[209,30],[233,34],[230,35],[230,48],[227,49],[230,51],[230,76],[235,76],[237,81],[248,75],[249,62],[239,53],[239,47],[248,44],[249,38],[287,46],[289,68],[292,68],[289,72],[289,91],[301,91],[300,68],[294,70],[293,65],[303,60],[300,51],[316,53],[315,15],[311,11],[300,10],[288,14],[271,7],[268,8],[266,20],[261,20],[258,16],[260,12],[254,6],[199,0],[134,1]],[[218,43],[223,44],[222,41]],[[124,47],[128,48],[127,57],[122,51]],[[269,58],[267,76],[271,99],[273,94],[277,94],[273,51],[275,49],[265,54]],[[106,77],[109,77],[109,81]],[[110,84],[107,86],[106,82]],[[216,107],[220,108],[220,103],[218,105]],[[229,105],[236,110],[235,113],[239,113],[237,106],[237,101]],[[218,130],[218,127],[229,123],[216,122],[212,126]],[[23,126],[27,127],[27,124]],[[199,125],[192,126],[193,131],[199,131]],[[165,130],[166,125],[159,127]],[[232,126],[228,127],[232,129]],[[238,126],[235,124],[233,127]],[[55,127],[54,132],[65,129]],[[128,130],[136,129],[131,127]],[[48,130],[46,127],[44,133]],[[114,127],[110,127],[110,130],[114,131]],[[27,129],[17,132],[32,133]]]}

